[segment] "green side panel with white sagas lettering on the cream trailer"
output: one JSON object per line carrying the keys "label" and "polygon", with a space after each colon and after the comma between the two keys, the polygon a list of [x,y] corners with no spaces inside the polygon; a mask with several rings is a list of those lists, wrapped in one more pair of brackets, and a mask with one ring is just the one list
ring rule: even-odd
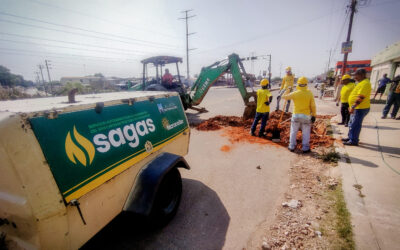
{"label": "green side panel with white sagas lettering on the cream trailer", "polygon": [[188,128],[179,96],[34,117],[31,124],[64,198]]}

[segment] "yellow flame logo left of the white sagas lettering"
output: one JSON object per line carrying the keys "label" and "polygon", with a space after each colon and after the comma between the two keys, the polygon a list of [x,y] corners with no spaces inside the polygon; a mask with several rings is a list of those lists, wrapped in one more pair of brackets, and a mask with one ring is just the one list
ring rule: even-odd
{"label": "yellow flame logo left of the white sagas lettering", "polygon": [[83,150],[72,140],[71,133],[69,131],[67,137],[65,138],[65,152],[67,153],[68,159],[74,164],[76,164],[76,160],[78,160],[85,167],[92,164],[96,152],[93,144],[79,134],[75,126],[73,129],[73,136],[75,141],[86,151],[89,159],[87,159],[88,157],[86,157],[85,152],[83,152]]}

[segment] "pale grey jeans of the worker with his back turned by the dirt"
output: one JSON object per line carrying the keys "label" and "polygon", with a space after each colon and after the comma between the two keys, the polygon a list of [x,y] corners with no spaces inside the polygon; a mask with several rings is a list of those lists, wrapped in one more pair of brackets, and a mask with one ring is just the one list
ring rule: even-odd
{"label": "pale grey jeans of the worker with his back turned by the dirt", "polygon": [[295,149],[297,132],[301,128],[301,134],[303,136],[302,150],[307,151],[310,149],[310,131],[311,131],[311,117],[307,115],[292,116],[290,124],[290,140],[289,149]]}

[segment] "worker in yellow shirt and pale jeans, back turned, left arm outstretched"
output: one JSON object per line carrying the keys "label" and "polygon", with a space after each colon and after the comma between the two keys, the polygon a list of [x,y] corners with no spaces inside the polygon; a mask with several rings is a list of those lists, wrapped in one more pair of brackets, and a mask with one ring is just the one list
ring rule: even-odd
{"label": "worker in yellow shirt and pale jeans, back turned, left arm outstretched", "polygon": [[302,151],[309,153],[311,123],[315,122],[316,107],[313,93],[307,88],[308,79],[304,76],[297,81],[297,90],[290,93],[289,89],[282,96],[285,100],[293,100],[294,110],[290,125],[290,142],[288,149],[293,152],[296,148],[297,132],[301,128],[303,136]]}

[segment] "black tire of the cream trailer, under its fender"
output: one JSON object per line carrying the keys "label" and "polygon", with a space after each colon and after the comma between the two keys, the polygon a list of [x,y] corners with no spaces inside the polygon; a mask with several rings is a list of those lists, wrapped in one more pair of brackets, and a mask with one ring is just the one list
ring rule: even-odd
{"label": "black tire of the cream trailer, under its fender", "polygon": [[150,214],[153,226],[163,227],[171,221],[178,211],[182,197],[182,178],[177,168],[171,169],[158,188]]}

